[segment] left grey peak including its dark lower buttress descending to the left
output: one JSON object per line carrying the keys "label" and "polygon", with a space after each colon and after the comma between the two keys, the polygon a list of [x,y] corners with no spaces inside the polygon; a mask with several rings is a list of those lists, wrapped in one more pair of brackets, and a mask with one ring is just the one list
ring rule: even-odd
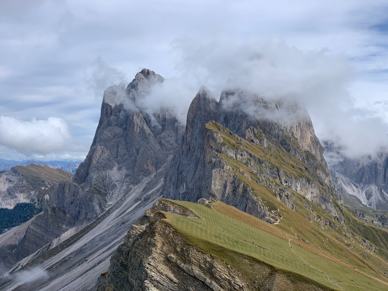
{"label": "left grey peak including its dark lower buttress descending to the left", "polygon": [[182,125],[167,108],[148,113],[141,102],[162,81],[143,69],[126,88],[120,84],[105,90],[94,140],[74,182],[52,188],[47,210],[28,226],[8,267],[69,229],[92,222],[166,164],[182,139]]}

